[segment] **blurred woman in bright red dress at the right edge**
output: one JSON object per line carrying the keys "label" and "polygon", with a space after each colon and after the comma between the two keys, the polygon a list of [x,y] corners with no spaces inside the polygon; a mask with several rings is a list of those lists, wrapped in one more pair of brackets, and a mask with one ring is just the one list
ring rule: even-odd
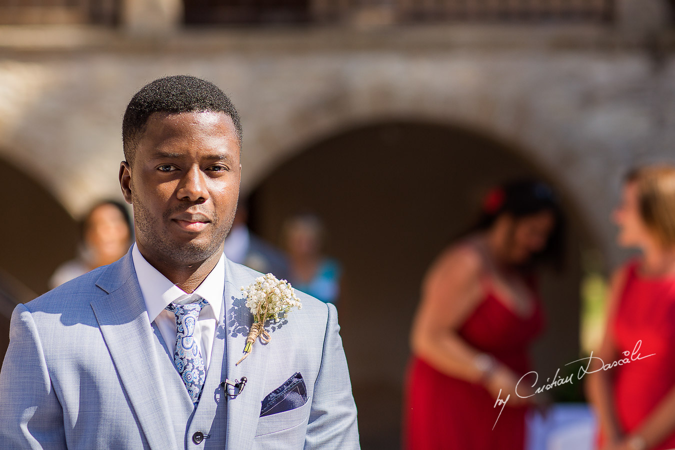
{"label": "blurred woman in bright red dress at the right edge", "polygon": [[[603,450],[675,448],[675,167],[632,171],[614,211],[618,243],[641,250],[612,277],[607,329],[589,375]],[[628,352],[627,356],[626,353]],[[649,356],[651,355],[651,356]],[[591,365],[589,371],[599,368]]]}

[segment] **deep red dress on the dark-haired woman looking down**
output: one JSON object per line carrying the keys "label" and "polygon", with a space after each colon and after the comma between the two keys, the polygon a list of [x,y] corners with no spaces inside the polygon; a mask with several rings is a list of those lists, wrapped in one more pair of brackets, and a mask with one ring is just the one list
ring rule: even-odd
{"label": "deep red dress on the dark-haired woman looking down", "polygon": [[[529,344],[543,329],[541,304],[536,296],[535,300],[535,308],[523,318],[487,288],[459,335],[516,374],[525,374],[531,370]],[[413,356],[406,385],[404,448],[522,450],[526,407],[507,405],[497,420],[502,407],[495,407],[496,400],[483,386],[441,374]]]}

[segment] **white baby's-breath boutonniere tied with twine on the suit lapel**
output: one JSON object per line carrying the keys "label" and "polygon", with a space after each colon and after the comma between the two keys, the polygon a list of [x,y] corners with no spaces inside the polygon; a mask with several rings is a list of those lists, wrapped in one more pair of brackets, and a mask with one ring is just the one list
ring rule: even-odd
{"label": "white baby's-breath boutonniere tied with twine on the suit lapel", "polygon": [[265,330],[265,322],[274,320],[279,322],[285,318],[290,310],[302,308],[300,299],[295,295],[295,289],[286,280],[279,280],[271,273],[258,277],[254,283],[248,287],[242,287],[242,292],[246,294],[246,307],[253,314],[253,325],[246,337],[246,346],[244,347],[244,356],[235,366],[246,359],[250,354],[253,343],[260,337],[263,343],[268,343],[271,336]]}

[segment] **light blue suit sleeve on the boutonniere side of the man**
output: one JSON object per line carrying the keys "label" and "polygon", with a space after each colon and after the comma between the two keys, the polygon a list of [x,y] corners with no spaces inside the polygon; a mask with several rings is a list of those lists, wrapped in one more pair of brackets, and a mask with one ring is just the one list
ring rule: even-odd
{"label": "light blue suit sleeve on the boutonniere side of the man", "polygon": [[314,386],[304,450],[358,450],[356,404],[342,348],[338,312],[327,304],[323,357]]}

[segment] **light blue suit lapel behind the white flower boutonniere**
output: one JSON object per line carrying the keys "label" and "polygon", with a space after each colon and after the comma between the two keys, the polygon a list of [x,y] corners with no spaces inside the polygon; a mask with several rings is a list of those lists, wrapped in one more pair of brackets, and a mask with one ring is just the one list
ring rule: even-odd
{"label": "light blue suit lapel behind the white flower boutonniere", "polygon": [[269,358],[265,346],[257,341],[246,360],[236,366],[243,356],[248,331],[253,316],[244,304],[246,298],[239,290],[242,284],[250,283],[250,275],[238,273],[240,269],[229,260],[225,264],[225,331],[227,333],[227,378],[241,380],[246,376],[246,387],[240,395],[227,400],[227,448],[250,449],[260,418],[265,374]]}

